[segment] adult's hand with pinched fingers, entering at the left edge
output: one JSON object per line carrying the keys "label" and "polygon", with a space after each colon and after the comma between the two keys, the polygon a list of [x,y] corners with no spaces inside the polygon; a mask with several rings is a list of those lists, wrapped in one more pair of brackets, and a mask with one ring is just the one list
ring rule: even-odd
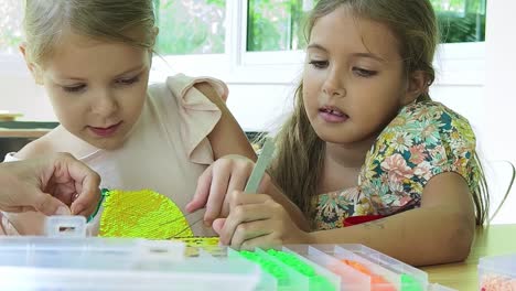
{"label": "adult's hand with pinched fingers, entering at the left edge", "polygon": [[0,209],[45,215],[90,215],[100,177],[68,153],[0,164]]}

